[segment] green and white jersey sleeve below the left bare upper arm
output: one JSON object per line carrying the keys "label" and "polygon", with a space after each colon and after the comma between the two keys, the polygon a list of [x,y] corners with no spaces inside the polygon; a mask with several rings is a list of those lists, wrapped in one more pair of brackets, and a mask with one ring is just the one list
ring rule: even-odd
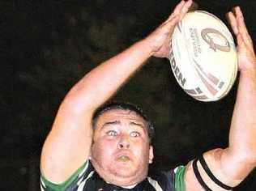
{"label": "green and white jersey sleeve below the left bare upper arm", "polygon": [[77,169],[66,181],[61,184],[54,184],[47,180],[41,172],[41,191],[71,191],[77,190],[84,176],[92,172],[92,164],[87,160],[79,169]]}

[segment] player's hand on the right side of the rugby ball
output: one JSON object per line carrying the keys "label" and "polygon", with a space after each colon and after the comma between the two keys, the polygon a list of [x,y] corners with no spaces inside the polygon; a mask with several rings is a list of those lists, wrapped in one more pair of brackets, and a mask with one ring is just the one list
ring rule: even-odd
{"label": "player's hand on the right side of the rugby ball", "polygon": [[237,36],[237,58],[241,72],[256,70],[256,57],[254,53],[253,40],[245,26],[244,16],[241,8],[236,6],[233,12],[228,12],[228,20],[234,34]]}

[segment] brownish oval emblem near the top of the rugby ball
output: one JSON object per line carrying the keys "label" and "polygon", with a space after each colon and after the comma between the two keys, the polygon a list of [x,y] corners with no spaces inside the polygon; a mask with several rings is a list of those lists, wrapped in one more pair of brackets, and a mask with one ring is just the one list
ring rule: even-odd
{"label": "brownish oval emblem near the top of the rugby ball", "polygon": [[216,49],[219,49],[222,52],[230,51],[228,39],[220,31],[214,28],[205,28],[202,30],[201,36],[215,52]]}

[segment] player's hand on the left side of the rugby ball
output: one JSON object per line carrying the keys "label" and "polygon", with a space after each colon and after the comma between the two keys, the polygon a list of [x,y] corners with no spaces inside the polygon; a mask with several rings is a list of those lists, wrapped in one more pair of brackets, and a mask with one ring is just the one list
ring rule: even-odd
{"label": "player's hand on the left side of the rugby ball", "polygon": [[146,37],[145,40],[147,40],[154,57],[169,57],[169,44],[173,29],[189,11],[192,3],[192,0],[179,2],[169,18]]}

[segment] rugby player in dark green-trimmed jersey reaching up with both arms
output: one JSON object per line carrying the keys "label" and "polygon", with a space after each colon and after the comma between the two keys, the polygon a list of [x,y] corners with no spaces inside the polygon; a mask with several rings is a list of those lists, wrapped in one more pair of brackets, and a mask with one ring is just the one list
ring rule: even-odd
{"label": "rugby player in dark green-trimmed jersey reaching up with both arms", "polygon": [[186,167],[147,175],[154,154],[151,123],[130,104],[96,109],[153,57],[169,56],[175,25],[192,1],[181,1],[145,39],[86,74],[68,92],[41,154],[42,190],[229,190],[256,164],[256,58],[240,7],[228,13],[240,70],[227,148],[203,153]]}

